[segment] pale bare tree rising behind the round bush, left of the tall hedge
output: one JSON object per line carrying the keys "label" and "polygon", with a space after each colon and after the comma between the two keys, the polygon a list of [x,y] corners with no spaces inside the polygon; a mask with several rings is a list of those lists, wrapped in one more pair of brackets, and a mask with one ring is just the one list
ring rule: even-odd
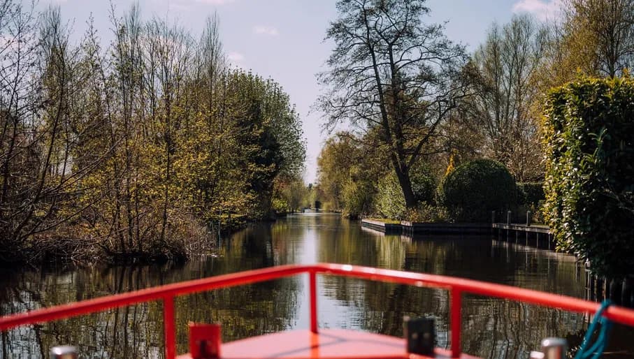
{"label": "pale bare tree rising behind the round bush, left of the tall hedge", "polygon": [[542,61],[543,38],[528,15],[515,16],[503,27],[493,24],[473,54],[473,96],[461,111],[482,133],[482,154],[504,163],[521,181],[541,175],[534,76]]}

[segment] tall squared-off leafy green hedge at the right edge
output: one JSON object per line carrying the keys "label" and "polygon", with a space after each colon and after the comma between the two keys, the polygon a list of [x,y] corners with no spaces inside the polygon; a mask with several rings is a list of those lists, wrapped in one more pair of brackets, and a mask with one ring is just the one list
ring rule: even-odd
{"label": "tall squared-off leafy green hedge at the right edge", "polygon": [[579,78],[549,92],[545,216],[558,248],[599,275],[634,272],[634,81]]}

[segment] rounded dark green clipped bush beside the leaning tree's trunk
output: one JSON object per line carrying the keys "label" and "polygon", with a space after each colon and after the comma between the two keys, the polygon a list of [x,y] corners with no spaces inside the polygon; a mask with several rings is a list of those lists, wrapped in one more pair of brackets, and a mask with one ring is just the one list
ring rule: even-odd
{"label": "rounded dark green clipped bush beside the leaning tree's trunk", "polygon": [[491,211],[515,203],[515,181],[501,163],[480,159],[465,163],[440,184],[440,203],[454,221],[490,221]]}

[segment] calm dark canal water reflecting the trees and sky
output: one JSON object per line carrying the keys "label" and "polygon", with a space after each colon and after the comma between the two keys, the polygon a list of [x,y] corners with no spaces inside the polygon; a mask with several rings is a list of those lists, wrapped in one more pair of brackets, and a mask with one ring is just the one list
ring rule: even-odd
{"label": "calm dark canal water reflecting the trees and sky", "polygon": [[[49,268],[0,272],[0,314],[287,263],[351,263],[465,277],[585,298],[575,258],[492,237],[405,237],[361,228],[336,214],[294,214],[223,239],[216,256],[183,265]],[[319,326],[403,334],[403,316],[435,318],[437,344],[448,346],[446,291],[319,277]],[[187,295],[176,300],[178,352],[187,323],[222,323],[224,341],[308,328],[305,276]],[[578,346],[588,317],[475,295],[463,299],[463,350],[482,358],[528,358],[545,337]],[[48,358],[71,344],[80,358],[161,358],[161,303],[115,309],[1,333],[0,358]],[[634,334],[617,327],[610,358],[634,357]]]}

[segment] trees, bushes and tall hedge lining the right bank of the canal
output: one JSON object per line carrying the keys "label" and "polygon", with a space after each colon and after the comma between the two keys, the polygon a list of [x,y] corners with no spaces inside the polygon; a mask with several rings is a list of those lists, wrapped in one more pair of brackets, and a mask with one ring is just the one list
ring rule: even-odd
{"label": "trees, bushes and tall hedge lining the right bank of the canal", "polygon": [[633,274],[634,1],[516,14],[472,53],[425,0],[337,10],[317,77],[324,210],[456,224],[531,212],[593,273]]}

